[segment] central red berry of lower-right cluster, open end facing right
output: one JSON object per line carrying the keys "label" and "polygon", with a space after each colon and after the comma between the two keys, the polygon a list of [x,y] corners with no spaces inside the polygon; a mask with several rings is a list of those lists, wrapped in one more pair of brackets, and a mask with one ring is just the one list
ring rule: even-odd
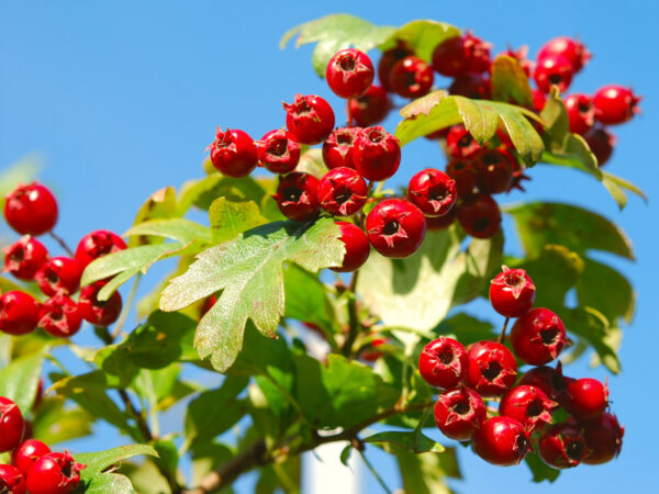
{"label": "central red berry of lower-right cluster, open end facing right", "polygon": [[529,433],[545,424],[551,424],[551,412],[558,403],[536,386],[516,385],[511,388],[499,403],[499,414],[514,418]]}

